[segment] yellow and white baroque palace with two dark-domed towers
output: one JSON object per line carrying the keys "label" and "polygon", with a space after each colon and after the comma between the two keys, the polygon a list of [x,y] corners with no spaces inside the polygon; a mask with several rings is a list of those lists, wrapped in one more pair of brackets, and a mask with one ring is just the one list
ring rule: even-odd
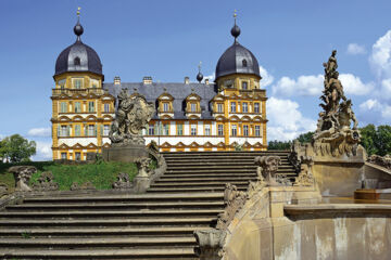
{"label": "yellow and white baroque palace with two dark-domed towers", "polygon": [[76,42],[63,50],[55,62],[52,90],[53,159],[85,160],[87,153],[110,146],[109,132],[115,117],[116,96],[125,89],[155,104],[156,113],[142,134],[154,140],[163,152],[179,151],[265,151],[266,90],[261,89],[260,66],[251,51],[238,42],[240,28],[219,57],[215,81],[198,82],[103,82],[97,52],[85,44],[84,28],[77,21]]}

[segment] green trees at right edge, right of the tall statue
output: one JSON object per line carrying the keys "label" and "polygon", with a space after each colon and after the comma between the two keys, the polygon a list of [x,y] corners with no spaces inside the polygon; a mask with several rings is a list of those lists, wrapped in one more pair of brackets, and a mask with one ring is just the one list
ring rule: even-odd
{"label": "green trees at right edge, right of the tall statue", "polygon": [[391,126],[368,125],[360,129],[361,144],[364,146],[368,155],[377,154],[384,156],[391,154]]}

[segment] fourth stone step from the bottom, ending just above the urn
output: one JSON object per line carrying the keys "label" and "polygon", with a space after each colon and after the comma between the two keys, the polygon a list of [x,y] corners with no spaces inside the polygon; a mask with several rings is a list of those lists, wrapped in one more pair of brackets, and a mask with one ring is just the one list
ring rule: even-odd
{"label": "fourth stone step from the bottom, ending just above the urn", "polygon": [[85,220],[0,220],[0,226],[209,226],[216,218],[140,218],[140,219],[85,219]]}

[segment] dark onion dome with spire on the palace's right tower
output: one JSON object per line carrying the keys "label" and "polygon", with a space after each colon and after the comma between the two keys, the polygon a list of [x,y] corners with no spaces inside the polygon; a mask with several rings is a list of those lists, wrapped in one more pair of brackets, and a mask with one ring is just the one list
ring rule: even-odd
{"label": "dark onion dome with spire on the palace's right tower", "polygon": [[[234,44],[229,47],[223,55],[219,57],[216,66],[216,82],[217,86],[220,87],[236,87],[240,89],[239,82],[231,86],[231,80],[236,79],[238,76],[248,78],[250,81],[248,87],[258,88],[258,83],[254,83],[253,81],[260,81],[260,65],[256,61],[254,54],[241,46],[238,41],[238,37],[240,36],[240,28],[237,25],[237,14],[234,14],[235,24],[231,28],[230,32],[235,38]],[[228,81],[226,81],[228,80]],[[220,86],[223,84],[223,86]],[[227,86],[225,86],[227,84]],[[256,86],[256,87],[255,87]]]}

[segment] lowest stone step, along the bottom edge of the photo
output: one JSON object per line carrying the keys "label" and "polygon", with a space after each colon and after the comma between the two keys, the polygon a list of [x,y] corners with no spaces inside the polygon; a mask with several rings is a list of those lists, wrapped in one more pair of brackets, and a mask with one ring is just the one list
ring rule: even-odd
{"label": "lowest stone step, along the bottom edge of the photo", "polygon": [[51,250],[51,249],[0,249],[2,259],[198,259],[193,247],[143,248],[143,249],[94,249],[94,250]]}

